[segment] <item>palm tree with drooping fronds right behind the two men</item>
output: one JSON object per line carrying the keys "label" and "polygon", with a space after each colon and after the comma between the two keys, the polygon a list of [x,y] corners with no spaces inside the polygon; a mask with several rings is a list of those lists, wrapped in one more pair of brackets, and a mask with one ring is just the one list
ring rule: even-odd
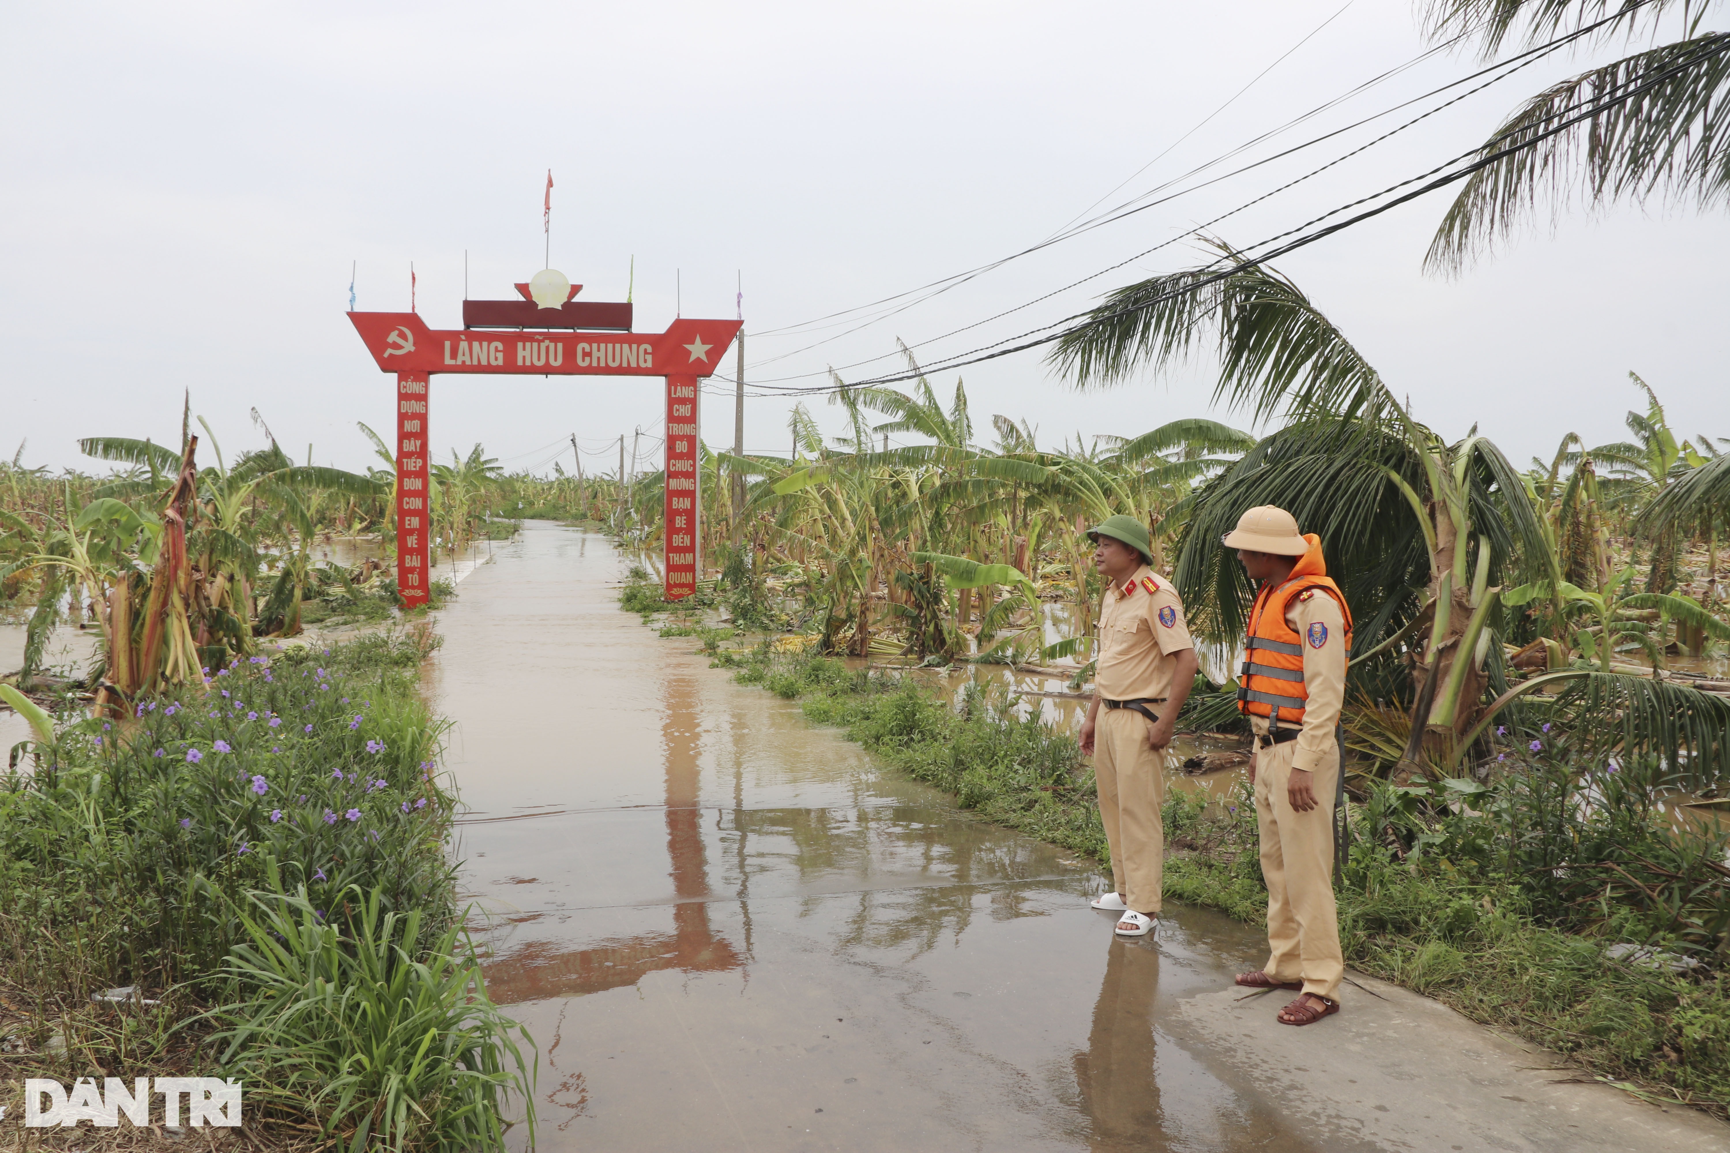
{"label": "palm tree with drooping fronds right behind the two men", "polygon": [[[1218,247],[1235,263],[1228,245]],[[1220,536],[1244,508],[1280,505],[1322,536],[1329,570],[1342,574],[1358,621],[1355,664],[1408,650],[1412,733],[1400,771],[1415,771],[1426,750],[1427,759],[1464,752],[1481,733],[1474,719],[1495,674],[1486,659],[1500,577],[1548,577],[1550,541],[1526,477],[1476,429],[1446,443],[1415,422],[1285,277],[1256,266],[1206,282],[1211,273],[1112,292],[1050,360],[1078,387],[1111,385],[1166,370],[1211,335],[1221,365],[1214,398],[1292,424],[1195,496],[1176,574],[1192,622],[1218,640],[1240,634],[1249,589]],[[1628,752],[1652,750],[1699,780],[1730,769],[1730,743],[1702,736],[1714,717],[1730,726],[1730,704],[1652,681],[1630,686],[1602,669],[1552,676],[1595,678],[1581,709],[1597,710],[1602,731],[1609,714],[1638,716],[1644,728],[1624,735]],[[1650,707],[1624,709],[1630,695]],[[1694,709],[1706,728],[1668,724],[1666,704],[1678,716]]]}

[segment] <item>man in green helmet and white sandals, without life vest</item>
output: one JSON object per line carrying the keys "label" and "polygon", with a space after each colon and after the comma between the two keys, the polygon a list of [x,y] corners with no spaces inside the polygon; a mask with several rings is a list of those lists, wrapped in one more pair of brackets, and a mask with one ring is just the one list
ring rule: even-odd
{"label": "man in green helmet and white sandals, without life vest", "polygon": [[1166,856],[1159,823],[1164,750],[1195,681],[1195,647],[1183,602],[1164,577],[1154,576],[1147,526],[1135,517],[1107,517],[1088,529],[1088,539],[1093,567],[1105,577],[1105,596],[1081,752],[1093,757],[1114,882],[1114,890],[1092,904],[1123,913],[1119,937],[1145,937],[1159,920]]}

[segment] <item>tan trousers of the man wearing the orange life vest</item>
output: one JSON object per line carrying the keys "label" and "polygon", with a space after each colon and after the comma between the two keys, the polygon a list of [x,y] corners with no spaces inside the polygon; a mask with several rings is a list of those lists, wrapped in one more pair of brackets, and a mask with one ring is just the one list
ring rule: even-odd
{"label": "tan trousers of the man wearing the orange life vest", "polygon": [[1278,982],[1303,980],[1303,991],[1336,999],[1346,975],[1339,951],[1339,909],[1334,904],[1334,788],[1339,754],[1310,774],[1317,807],[1296,812],[1291,795],[1298,742],[1256,750],[1256,825],[1261,830],[1261,875],[1268,882],[1268,963]]}

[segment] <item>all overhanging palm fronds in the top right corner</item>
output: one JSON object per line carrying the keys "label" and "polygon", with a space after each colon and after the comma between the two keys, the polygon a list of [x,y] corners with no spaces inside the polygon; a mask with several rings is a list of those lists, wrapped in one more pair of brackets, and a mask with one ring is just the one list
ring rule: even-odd
{"label": "all overhanging palm fronds in the top right corner", "polygon": [[1426,263],[1457,271],[1531,216],[1540,199],[1586,207],[1663,195],[1709,206],[1730,195],[1730,33],[1701,31],[1711,0],[1426,0],[1436,40],[1507,43],[1564,36],[1633,40],[1682,9],[1683,38],[1555,83],[1484,142]]}

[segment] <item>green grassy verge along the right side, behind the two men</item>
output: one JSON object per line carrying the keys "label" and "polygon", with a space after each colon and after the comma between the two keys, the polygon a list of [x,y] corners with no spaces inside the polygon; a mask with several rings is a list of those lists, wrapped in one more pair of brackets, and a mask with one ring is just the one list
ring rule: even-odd
{"label": "green grassy verge along the right side, behind the two men", "polygon": [[[1017,717],[1007,700],[964,690],[952,702],[822,657],[706,648],[735,679],[799,700],[813,723],[843,728],[979,816],[1107,857],[1074,738]],[[1730,982],[1718,959],[1730,904],[1709,864],[1723,861],[1721,838],[1678,845],[1654,812],[1605,797],[1614,781],[1524,769],[1470,804],[1450,804],[1448,790],[1377,788],[1351,806],[1339,895],[1348,961],[1645,1099],[1725,1117]],[[1579,804],[1586,788],[1600,807]],[[1166,894],[1259,923],[1266,890],[1247,799],[1221,807],[1173,793],[1164,823]],[[1633,899],[1618,875],[1650,899]],[[1630,963],[1607,949],[1616,942],[1704,963],[1680,973]]]}

